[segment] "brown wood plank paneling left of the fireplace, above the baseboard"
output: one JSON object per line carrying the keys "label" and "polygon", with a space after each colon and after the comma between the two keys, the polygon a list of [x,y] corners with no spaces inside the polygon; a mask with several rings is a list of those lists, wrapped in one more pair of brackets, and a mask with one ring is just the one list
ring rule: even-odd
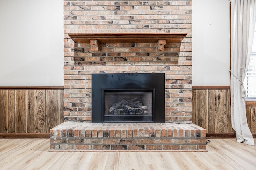
{"label": "brown wood plank paneling left of the fireplace, above the baseboard", "polygon": [[0,88],[0,133],[49,133],[63,122],[63,87]]}

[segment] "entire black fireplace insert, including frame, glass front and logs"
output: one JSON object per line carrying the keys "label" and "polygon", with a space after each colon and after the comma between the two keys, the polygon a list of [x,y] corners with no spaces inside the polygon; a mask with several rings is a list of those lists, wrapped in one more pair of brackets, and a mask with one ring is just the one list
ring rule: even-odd
{"label": "entire black fireplace insert, including frame, glass front and logs", "polygon": [[163,73],[92,74],[92,123],[165,123]]}

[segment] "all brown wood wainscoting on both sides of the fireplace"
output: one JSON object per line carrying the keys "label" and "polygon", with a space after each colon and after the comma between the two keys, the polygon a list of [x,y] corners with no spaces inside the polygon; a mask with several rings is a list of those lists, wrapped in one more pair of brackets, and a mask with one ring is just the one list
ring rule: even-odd
{"label": "all brown wood wainscoting on both sides of the fireplace", "polygon": [[[208,137],[234,137],[229,86],[193,87],[192,95],[192,122]],[[256,102],[246,102],[246,114],[255,137]],[[49,138],[63,117],[63,87],[0,87],[0,138]]]}

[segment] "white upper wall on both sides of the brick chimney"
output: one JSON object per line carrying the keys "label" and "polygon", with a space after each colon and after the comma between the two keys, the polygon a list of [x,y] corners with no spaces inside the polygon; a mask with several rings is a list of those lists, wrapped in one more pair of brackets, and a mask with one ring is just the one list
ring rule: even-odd
{"label": "white upper wall on both sides of the brick chimney", "polygon": [[[192,84],[229,85],[229,1],[192,12]],[[63,1],[2,1],[0,21],[0,86],[63,86]]]}

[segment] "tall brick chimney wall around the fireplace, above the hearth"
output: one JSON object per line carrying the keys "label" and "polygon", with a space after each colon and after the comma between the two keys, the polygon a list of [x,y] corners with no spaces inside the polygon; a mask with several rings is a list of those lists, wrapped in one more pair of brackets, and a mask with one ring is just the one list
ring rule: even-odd
{"label": "tall brick chimney wall around the fireplace, above the hearth", "polygon": [[[68,33],[187,33],[182,43],[104,43]],[[64,0],[64,120],[91,121],[92,73],[165,73],[166,122],[192,121],[192,1]]]}

